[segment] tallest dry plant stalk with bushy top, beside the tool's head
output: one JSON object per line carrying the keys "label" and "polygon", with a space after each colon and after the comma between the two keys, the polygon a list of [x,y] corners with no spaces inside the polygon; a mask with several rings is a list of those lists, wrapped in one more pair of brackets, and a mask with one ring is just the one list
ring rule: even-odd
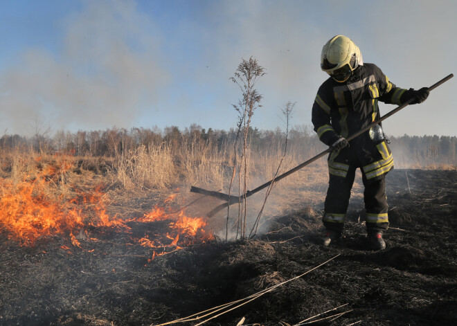
{"label": "tallest dry plant stalk with bushy top, beside the tool's head", "polygon": [[[242,99],[238,105],[233,105],[239,114],[239,130],[242,132],[242,150],[238,170],[238,192],[240,201],[238,203],[238,232],[240,238],[246,236],[246,218],[247,218],[247,178],[248,178],[248,158],[249,158],[249,127],[254,111],[259,107],[262,95],[255,89],[258,78],[265,75],[265,68],[260,66],[257,60],[250,57],[249,60],[242,59],[235,72],[235,76],[230,78],[232,82],[238,85],[242,91]],[[236,147],[235,147],[236,148]],[[236,152],[236,150],[235,150]],[[236,165],[235,165],[236,166]],[[235,172],[235,171],[234,171]]]}

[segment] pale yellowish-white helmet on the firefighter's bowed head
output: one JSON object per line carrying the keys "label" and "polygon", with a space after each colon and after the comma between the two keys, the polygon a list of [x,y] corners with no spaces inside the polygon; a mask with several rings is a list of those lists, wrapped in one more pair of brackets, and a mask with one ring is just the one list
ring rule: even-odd
{"label": "pale yellowish-white helmet on the firefighter's bowed head", "polygon": [[346,82],[364,61],[359,47],[343,35],[332,37],[322,48],[321,69],[337,82]]}

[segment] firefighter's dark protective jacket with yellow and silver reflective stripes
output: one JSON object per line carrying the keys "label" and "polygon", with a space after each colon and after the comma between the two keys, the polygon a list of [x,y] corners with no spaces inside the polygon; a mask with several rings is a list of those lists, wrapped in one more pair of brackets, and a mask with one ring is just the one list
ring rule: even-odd
{"label": "firefighter's dark protective jacket with yellow and silver reflective stripes", "polygon": [[[357,67],[346,82],[330,77],[319,87],[314,100],[314,131],[330,146],[338,135],[347,138],[377,120],[379,100],[401,105],[405,91],[391,83],[375,64]],[[368,180],[375,180],[393,168],[393,158],[386,141],[375,143],[367,131],[350,141],[349,148],[331,152],[328,165],[330,174],[343,177],[349,165],[356,165]]]}

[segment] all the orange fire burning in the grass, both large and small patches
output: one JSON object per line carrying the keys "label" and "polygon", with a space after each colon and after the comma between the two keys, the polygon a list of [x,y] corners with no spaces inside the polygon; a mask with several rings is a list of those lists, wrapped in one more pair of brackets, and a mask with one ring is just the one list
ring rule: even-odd
{"label": "all the orange fire burning in the grass, both large and small patches", "polygon": [[107,213],[111,199],[103,192],[102,185],[90,191],[70,185],[73,195],[58,191],[73,167],[68,158],[55,156],[51,163],[44,163],[42,157],[38,157],[34,163],[35,170],[26,173],[20,181],[0,179],[0,233],[5,233],[8,239],[21,245],[33,246],[39,239],[60,236],[69,239],[67,245],[61,246],[62,249],[69,251],[69,246],[73,245],[73,248],[92,252],[94,249],[89,250],[87,246],[98,239],[89,235],[87,230],[90,228],[97,230],[99,235],[103,230],[131,233],[134,224],[157,222],[165,228],[160,234],[145,231],[143,236],[132,235],[126,240],[151,248],[152,259],[214,239],[214,235],[205,230],[207,223],[203,217],[186,216],[183,210],[172,209],[176,206],[177,193],[142,217],[122,219]]}

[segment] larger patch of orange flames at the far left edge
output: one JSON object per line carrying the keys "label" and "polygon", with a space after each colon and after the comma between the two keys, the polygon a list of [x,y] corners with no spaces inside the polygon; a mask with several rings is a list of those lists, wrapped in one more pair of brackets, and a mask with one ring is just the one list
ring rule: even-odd
{"label": "larger patch of orange flames at the far left edge", "polygon": [[[78,208],[78,198],[52,194],[49,189],[53,188],[54,180],[63,179],[73,165],[60,159],[42,167],[41,160],[41,156],[35,159],[37,173],[33,176],[27,174],[17,183],[0,179],[0,226],[9,239],[31,245],[41,237],[67,234],[87,224],[128,228],[121,219],[106,214],[101,186],[91,193],[77,190],[78,197],[86,204],[83,210]],[[90,215],[94,216],[93,220]],[[77,242],[73,240],[74,244]]]}

